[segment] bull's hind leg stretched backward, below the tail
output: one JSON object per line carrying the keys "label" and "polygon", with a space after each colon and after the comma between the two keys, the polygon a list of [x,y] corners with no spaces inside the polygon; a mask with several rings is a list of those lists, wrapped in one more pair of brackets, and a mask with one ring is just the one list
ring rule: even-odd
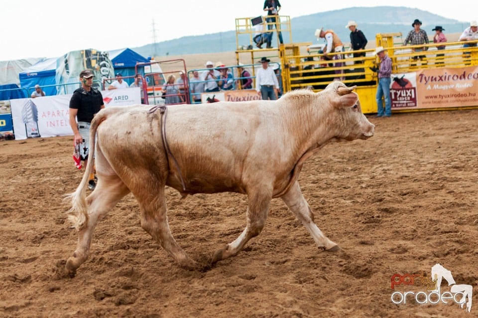
{"label": "bull's hind leg stretched backward, below the tail", "polygon": [[93,231],[98,221],[129,193],[129,189],[121,181],[118,175],[98,174],[98,184],[95,190],[88,196],[88,222],[78,233],[78,244],[73,255],[67,260],[65,271],[70,277],[76,273],[76,269],[90,256],[90,244]]}

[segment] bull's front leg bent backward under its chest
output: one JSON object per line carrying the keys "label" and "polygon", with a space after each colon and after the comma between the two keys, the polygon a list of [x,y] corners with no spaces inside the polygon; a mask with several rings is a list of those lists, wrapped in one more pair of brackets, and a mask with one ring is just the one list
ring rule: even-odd
{"label": "bull's front leg bent backward under its chest", "polygon": [[246,212],[247,223],[239,237],[232,243],[218,249],[211,260],[211,264],[224,260],[239,253],[245,243],[264,228],[267,214],[269,212],[270,200],[272,199],[272,188],[258,187],[248,192],[248,206]]}

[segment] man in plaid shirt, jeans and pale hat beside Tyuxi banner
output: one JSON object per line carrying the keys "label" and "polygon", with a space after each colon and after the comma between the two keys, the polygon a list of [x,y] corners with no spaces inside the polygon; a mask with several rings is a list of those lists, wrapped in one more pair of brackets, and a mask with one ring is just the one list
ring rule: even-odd
{"label": "man in plaid shirt, jeans and pale hat beside Tyuxi banner", "polygon": [[[382,46],[375,48],[375,55],[380,58],[380,66],[370,67],[374,72],[378,72],[378,87],[375,98],[377,100],[377,117],[392,116],[392,102],[390,100],[390,76],[392,74],[392,60],[385,52]],[[383,110],[383,101],[385,100],[385,111]]]}

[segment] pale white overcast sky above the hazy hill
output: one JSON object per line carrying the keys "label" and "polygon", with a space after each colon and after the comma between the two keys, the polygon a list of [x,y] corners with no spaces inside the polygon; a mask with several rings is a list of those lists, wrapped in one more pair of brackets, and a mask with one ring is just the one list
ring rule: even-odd
{"label": "pale white overcast sky above the hazy hill", "polygon": [[[348,7],[387,5],[418,8],[459,21],[478,19],[478,4],[468,0],[458,5],[428,0],[279,2],[279,13],[290,18]],[[264,14],[263,4],[264,0],[3,1],[0,61],[57,57],[87,48],[133,48],[182,36],[231,31],[236,28],[236,18]],[[345,17],[344,25],[350,19],[359,20]],[[320,21],[313,27],[319,24]]]}

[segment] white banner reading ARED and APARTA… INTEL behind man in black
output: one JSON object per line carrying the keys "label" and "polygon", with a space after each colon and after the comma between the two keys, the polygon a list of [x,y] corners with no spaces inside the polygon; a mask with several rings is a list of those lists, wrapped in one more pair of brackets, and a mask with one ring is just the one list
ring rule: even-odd
{"label": "white banner reading ARED and APARTA\u2026 INTEL behind man in black", "polygon": [[[102,91],[105,107],[141,104],[140,89]],[[70,136],[71,94],[10,100],[15,139]]]}

